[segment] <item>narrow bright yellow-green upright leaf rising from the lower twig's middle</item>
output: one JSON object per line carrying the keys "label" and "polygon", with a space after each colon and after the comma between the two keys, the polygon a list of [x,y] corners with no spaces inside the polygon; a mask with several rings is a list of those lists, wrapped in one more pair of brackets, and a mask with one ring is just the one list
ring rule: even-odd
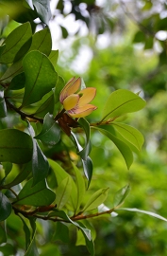
{"label": "narrow bright yellow-green upright leaf rising from the lower twig's middle", "polygon": [[[72,163],[73,164],[73,163]],[[79,170],[77,169],[77,167],[75,166],[75,164],[73,164],[73,168],[75,170],[75,184],[76,184],[76,211],[79,210],[80,205],[82,203],[82,199],[83,196],[85,194],[85,182],[83,179],[83,176],[80,174]]]}

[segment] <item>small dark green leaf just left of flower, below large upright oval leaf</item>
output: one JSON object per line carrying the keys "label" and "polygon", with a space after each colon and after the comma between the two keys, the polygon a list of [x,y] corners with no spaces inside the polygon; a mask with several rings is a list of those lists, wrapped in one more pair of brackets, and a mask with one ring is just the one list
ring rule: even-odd
{"label": "small dark green leaf just left of flower, below large upright oval leaf", "polygon": [[52,94],[51,96],[49,96],[49,98],[46,101],[44,101],[41,104],[41,106],[37,109],[34,115],[39,118],[44,118],[44,116],[47,113],[52,114],[54,112],[54,106],[55,106],[54,94]]}

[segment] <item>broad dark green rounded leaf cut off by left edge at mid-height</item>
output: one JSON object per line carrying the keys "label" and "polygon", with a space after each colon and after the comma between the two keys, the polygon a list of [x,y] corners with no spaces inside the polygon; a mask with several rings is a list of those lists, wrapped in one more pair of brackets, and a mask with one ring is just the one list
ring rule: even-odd
{"label": "broad dark green rounded leaf cut off by left edge at mid-height", "polygon": [[26,163],[32,157],[32,148],[32,140],[24,132],[16,129],[0,130],[0,161]]}

